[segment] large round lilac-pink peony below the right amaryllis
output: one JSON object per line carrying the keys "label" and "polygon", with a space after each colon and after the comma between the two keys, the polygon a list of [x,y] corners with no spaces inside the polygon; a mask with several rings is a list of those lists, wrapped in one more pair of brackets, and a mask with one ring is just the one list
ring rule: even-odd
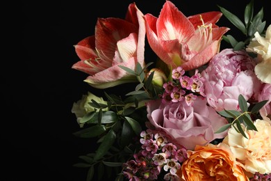
{"label": "large round lilac-pink peony below the right amaryllis", "polygon": [[261,81],[256,78],[254,66],[253,58],[245,51],[223,49],[213,56],[208,67],[202,71],[208,104],[216,111],[239,110],[240,94],[245,100],[255,100]]}

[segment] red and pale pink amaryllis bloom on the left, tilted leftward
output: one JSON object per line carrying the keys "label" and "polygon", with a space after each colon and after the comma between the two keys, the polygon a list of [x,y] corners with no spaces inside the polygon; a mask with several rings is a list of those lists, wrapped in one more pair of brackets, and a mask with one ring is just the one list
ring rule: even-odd
{"label": "red and pale pink amaryllis bloom on the left, tilted leftward", "polygon": [[135,3],[131,3],[125,19],[98,18],[95,35],[75,45],[81,61],[72,68],[90,74],[85,82],[95,88],[108,88],[136,81],[136,77],[119,67],[135,70],[144,65],[145,19]]}

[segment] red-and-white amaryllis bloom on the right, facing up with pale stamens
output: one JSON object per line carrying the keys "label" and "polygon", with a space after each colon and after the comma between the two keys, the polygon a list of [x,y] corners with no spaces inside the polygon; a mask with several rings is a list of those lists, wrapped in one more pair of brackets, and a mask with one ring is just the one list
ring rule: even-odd
{"label": "red-and-white amaryllis bloom on the right, facing up with pale stamens", "polygon": [[199,68],[219,52],[221,38],[229,31],[215,25],[221,16],[213,11],[186,17],[171,1],[165,1],[158,18],[145,15],[149,45],[169,68]]}

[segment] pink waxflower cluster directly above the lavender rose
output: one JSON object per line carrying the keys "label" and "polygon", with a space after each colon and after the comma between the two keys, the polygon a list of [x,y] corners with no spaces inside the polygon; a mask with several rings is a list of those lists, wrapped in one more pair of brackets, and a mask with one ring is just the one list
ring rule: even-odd
{"label": "pink waxflower cluster directly above the lavender rose", "polygon": [[165,89],[162,98],[163,103],[186,101],[190,106],[196,100],[197,95],[204,95],[204,87],[201,74],[198,70],[192,77],[185,74],[185,70],[180,66],[172,70],[172,81],[163,84]]}

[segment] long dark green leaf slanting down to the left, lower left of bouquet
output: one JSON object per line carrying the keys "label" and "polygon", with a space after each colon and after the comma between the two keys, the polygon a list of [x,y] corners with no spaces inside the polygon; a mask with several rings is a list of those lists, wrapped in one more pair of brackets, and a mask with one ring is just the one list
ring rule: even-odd
{"label": "long dark green leaf slanting down to the left, lower left of bouquet", "polygon": [[97,161],[98,159],[101,159],[101,157],[104,157],[106,152],[110,149],[110,147],[113,145],[116,139],[116,134],[113,131],[113,129],[110,129],[110,131],[104,136],[104,140],[101,142],[101,145],[99,145],[99,148],[96,150],[96,155],[94,157],[94,161]]}

